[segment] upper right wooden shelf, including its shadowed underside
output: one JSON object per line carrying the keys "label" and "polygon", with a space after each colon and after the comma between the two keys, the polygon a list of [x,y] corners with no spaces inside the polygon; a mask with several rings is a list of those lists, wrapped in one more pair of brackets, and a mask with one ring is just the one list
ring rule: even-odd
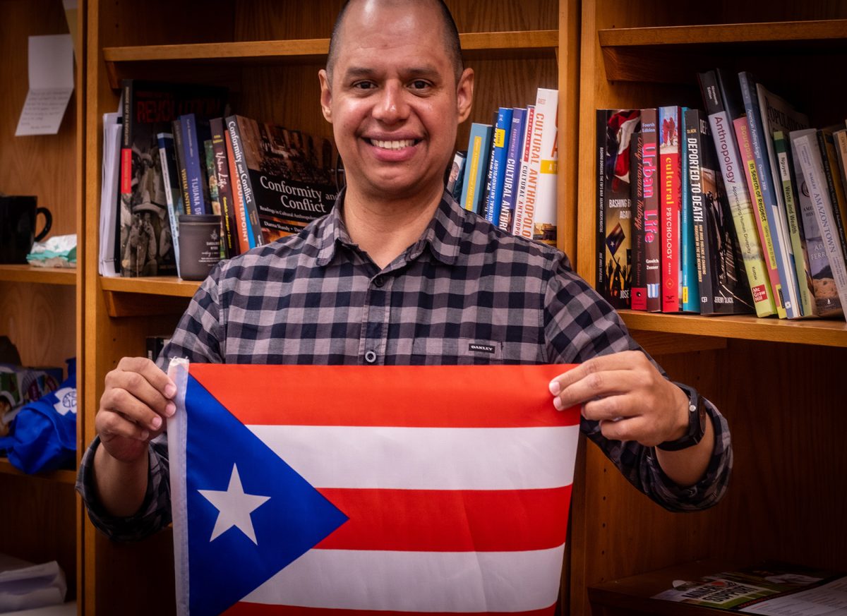
{"label": "upper right wooden shelf, including its shadowed underside", "polygon": [[[695,69],[736,56],[847,53],[847,19],[678,25],[597,31],[606,79],[687,83]],[[660,70],[661,68],[661,70]]]}

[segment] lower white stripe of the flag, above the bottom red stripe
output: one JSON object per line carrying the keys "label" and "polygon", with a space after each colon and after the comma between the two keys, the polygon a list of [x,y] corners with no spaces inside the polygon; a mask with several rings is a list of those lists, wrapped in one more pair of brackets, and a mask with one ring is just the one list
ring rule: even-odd
{"label": "lower white stripe of the flag, above the bottom red stripe", "polygon": [[531,552],[310,550],[241,601],[397,612],[524,612],[556,602],[559,577],[550,572],[561,568],[563,553],[564,545]]}

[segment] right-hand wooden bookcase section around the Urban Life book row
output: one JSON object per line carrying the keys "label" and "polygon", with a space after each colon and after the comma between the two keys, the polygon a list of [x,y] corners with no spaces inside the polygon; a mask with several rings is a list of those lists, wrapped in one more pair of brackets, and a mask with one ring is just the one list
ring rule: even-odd
{"label": "right-hand wooden bookcase section around the Urban Life book row", "polygon": [[[579,149],[594,151],[596,108],[701,107],[696,73],[716,66],[752,71],[805,109],[813,124],[843,122],[847,84],[833,80],[833,71],[847,60],[845,18],[839,3],[666,8],[584,0]],[[577,267],[594,280],[592,157],[579,159],[577,181]],[[683,612],[649,597],[668,580],[705,573],[711,563],[774,558],[847,569],[847,507],[837,487],[847,465],[831,434],[840,431],[847,394],[847,324],[636,311],[622,316],[674,380],[700,389],[727,416],[734,476],[716,508],[669,514],[586,446],[580,454],[584,483],[573,497],[570,612],[705,616],[711,610]],[[668,347],[668,337],[677,349]],[[712,572],[722,565],[713,566]]]}

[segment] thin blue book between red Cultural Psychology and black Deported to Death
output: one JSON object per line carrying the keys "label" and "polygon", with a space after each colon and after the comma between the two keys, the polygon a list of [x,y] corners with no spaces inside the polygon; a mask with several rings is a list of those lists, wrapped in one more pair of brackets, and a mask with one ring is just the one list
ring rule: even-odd
{"label": "thin blue book between red Cultural Psychology and black Deported to Death", "polygon": [[[689,108],[682,107],[680,117],[679,150],[682,160],[680,175],[680,192],[682,202],[679,206],[679,302],[683,312],[700,312],[700,280],[697,275],[697,255],[694,237],[694,206],[691,193],[691,175],[689,166],[689,121],[692,132],[697,132],[697,116],[688,117]],[[702,213],[702,212],[700,212]]]}

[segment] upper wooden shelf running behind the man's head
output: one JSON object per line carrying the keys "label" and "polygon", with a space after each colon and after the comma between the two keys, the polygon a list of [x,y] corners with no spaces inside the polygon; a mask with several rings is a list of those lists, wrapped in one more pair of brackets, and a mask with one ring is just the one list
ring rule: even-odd
{"label": "upper wooden shelf running behind the man's head", "polygon": [[[468,59],[556,57],[557,30],[515,32],[468,32],[460,35],[462,52]],[[287,41],[237,41],[191,45],[150,45],[142,47],[104,47],[109,85],[117,89],[120,80],[145,73],[145,66],[161,63],[213,63],[234,65],[273,65],[323,62],[329,52],[329,39]]]}

